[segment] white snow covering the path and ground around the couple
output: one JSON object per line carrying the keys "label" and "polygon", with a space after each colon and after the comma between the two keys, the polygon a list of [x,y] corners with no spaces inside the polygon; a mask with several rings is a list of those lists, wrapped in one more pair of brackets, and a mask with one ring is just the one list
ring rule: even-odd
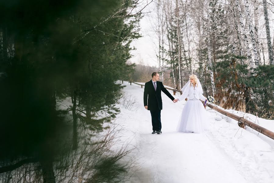
{"label": "white snow covering the path and ground around the couple", "polygon": [[[152,135],[151,115],[143,105],[144,88],[124,81],[124,91],[137,99],[137,109],[121,108],[116,123],[123,126],[121,141],[139,170],[127,182],[274,182],[274,140],[207,107],[202,134],[176,132],[185,102],[173,103],[162,93],[162,134]],[[170,91],[172,93],[172,91]],[[177,96],[178,97],[178,96]],[[174,97],[176,98],[176,97]],[[274,131],[274,120],[227,110]]]}

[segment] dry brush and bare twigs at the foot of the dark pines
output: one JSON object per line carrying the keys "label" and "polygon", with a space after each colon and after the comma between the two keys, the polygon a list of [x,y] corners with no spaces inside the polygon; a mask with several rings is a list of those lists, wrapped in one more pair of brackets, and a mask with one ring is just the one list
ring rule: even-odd
{"label": "dry brush and bare twigs at the foot of the dark pines", "polygon": [[[119,141],[120,131],[115,124],[100,134],[85,131],[77,150],[72,150],[72,139],[68,139],[53,163],[55,181],[116,183],[128,180],[131,176],[129,170],[136,167],[136,163],[128,156],[132,149],[127,144],[114,147]],[[39,162],[25,164],[0,174],[0,182],[42,183],[40,166]]]}

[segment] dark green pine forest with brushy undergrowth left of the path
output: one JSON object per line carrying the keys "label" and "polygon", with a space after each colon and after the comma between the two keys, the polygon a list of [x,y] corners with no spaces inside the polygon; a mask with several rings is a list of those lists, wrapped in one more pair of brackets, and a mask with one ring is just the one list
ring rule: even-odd
{"label": "dark green pine forest with brushy undergrowth left of the path", "polygon": [[146,5],[0,2],[0,182],[124,180],[110,126]]}

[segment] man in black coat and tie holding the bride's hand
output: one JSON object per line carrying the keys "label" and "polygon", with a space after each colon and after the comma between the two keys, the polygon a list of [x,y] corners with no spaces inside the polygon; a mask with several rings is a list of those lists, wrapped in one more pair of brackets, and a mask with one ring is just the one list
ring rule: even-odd
{"label": "man in black coat and tie holding the bride's hand", "polygon": [[176,99],[166,90],[163,83],[158,81],[159,74],[154,72],[151,74],[152,79],[146,82],[144,86],[144,107],[150,110],[152,120],[152,134],[161,134],[161,110],[163,109],[161,91],[165,93],[173,102]]}

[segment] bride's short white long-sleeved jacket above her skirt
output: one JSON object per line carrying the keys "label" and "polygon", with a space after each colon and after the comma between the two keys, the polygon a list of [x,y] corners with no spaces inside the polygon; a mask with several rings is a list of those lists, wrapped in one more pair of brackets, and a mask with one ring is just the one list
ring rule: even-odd
{"label": "bride's short white long-sleeved jacket above her skirt", "polygon": [[187,87],[185,91],[183,91],[183,94],[178,99],[179,101],[181,101],[181,100],[185,100],[186,98],[188,98],[189,100],[199,100],[199,99],[203,101],[207,100],[207,98],[205,98],[204,95],[199,92],[197,83],[195,88],[193,84],[191,83],[191,86]]}

